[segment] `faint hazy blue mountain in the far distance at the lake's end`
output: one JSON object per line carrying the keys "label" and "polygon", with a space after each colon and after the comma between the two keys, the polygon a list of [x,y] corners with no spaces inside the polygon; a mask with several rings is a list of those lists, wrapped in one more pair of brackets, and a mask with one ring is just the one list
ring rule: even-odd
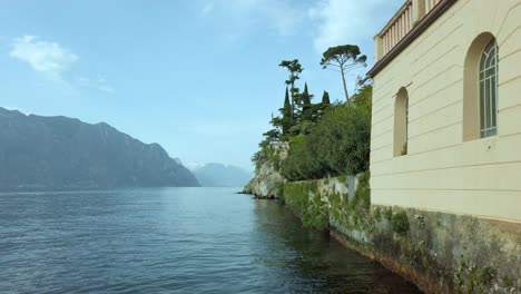
{"label": "faint hazy blue mountain in the far distance at the lake's end", "polygon": [[193,169],[204,187],[243,187],[253,177],[252,173],[236,166],[207,164]]}

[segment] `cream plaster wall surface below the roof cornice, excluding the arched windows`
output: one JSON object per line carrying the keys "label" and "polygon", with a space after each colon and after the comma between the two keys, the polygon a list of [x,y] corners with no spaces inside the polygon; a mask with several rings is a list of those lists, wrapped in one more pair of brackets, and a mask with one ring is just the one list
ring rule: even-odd
{"label": "cream plaster wall surface below the roof cornice, excluding the arched windows", "polygon": [[[468,140],[465,57],[483,32],[499,46],[498,135]],[[373,86],[372,204],[521,222],[521,0],[456,1]],[[407,154],[396,156],[402,88],[409,96]]]}

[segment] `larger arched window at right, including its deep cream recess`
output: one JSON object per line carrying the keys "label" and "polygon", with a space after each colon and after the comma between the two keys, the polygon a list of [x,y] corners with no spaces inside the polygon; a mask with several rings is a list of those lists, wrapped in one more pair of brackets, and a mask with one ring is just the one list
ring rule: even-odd
{"label": "larger arched window at right, including its deep cream recess", "polygon": [[498,135],[499,50],[490,32],[479,35],[466,53],[463,70],[463,140]]}

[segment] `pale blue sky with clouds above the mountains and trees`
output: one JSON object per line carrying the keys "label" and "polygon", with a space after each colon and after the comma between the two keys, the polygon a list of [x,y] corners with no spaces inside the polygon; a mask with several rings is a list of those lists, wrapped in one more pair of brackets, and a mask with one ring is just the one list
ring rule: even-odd
{"label": "pale blue sky with clouds above the mountains and trees", "polygon": [[322,52],[373,37],[404,0],[0,0],[0,107],[108,122],[188,167],[253,169],[298,59],[318,101],[343,100]]}

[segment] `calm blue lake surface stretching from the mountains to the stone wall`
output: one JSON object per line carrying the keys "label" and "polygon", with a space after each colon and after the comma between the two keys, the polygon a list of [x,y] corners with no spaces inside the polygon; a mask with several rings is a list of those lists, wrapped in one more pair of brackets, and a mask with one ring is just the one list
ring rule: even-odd
{"label": "calm blue lake surface stretching from the mountains to the stone wall", "polygon": [[0,194],[0,292],[420,293],[236,190]]}

